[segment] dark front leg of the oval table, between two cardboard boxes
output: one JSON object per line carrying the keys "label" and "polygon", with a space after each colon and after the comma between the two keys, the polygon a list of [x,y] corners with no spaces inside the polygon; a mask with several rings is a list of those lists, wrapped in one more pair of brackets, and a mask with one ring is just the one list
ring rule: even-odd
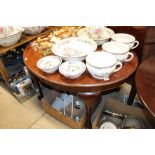
{"label": "dark front leg of the oval table, between two cardboard boxes", "polygon": [[91,129],[91,115],[92,107],[95,105],[96,101],[100,97],[101,92],[91,92],[91,93],[78,93],[78,96],[83,100],[86,105],[86,128]]}

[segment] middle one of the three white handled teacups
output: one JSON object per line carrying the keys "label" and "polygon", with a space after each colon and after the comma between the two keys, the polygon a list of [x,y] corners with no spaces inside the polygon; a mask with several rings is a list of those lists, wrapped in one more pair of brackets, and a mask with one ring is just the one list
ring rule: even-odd
{"label": "middle one of the three white handled teacups", "polygon": [[120,62],[128,62],[133,59],[133,53],[129,52],[129,46],[120,42],[106,42],[102,45],[105,52],[109,52]]}

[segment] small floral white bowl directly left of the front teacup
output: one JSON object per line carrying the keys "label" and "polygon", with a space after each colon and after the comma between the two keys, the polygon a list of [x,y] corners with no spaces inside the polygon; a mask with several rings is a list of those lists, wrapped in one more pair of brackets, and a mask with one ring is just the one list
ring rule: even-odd
{"label": "small floral white bowl directly left of the front teacup", "polygon": [[59,72],[67,78],[78,78],[86,70],[86,65],[78,60],[71,60],[62,63]]}

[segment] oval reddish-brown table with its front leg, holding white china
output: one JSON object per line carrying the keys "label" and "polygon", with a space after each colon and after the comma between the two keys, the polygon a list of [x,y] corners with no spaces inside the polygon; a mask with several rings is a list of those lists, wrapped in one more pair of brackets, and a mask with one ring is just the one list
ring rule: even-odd
{"label": "oval reddish-brown table with its front leg, holding white china", "polygon": [[31,45],[27,46],[23,53],[25,65],[37,79],[52,88],[77,93],[83,100],[86,105],[86,128],[92,127],[92,107],[101,92],[119,87],[136,71],[138,66],[138,58],[134,54],[133,59],[130,62],[123,63],[123,67],[118,72],[111,74],[108,81],[93,78],[87,70],[76,79],[68,79],[61,75],[59,71],[47,74],[37,68],[37,61],[42,57],[43,54],[34,51]]}

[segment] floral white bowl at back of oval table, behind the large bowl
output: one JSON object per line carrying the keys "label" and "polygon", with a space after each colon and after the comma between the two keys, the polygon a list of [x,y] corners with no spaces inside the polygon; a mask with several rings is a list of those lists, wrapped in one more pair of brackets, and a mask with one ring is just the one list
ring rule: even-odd
{"label": "floral white bowl at back of oval table, behind the large bowl", "polygon": [[97,43],[97,45],[102,45],[103,43],[109,41],[112,35],[114,35],[114,31],[106,27],[102,27],[99,33],[96,32],[98,31],[95,31],[95,29],[91,29],[91,27],[86,27],[80,29],[77,32],[77,35],[82,38],[91,38]]}

